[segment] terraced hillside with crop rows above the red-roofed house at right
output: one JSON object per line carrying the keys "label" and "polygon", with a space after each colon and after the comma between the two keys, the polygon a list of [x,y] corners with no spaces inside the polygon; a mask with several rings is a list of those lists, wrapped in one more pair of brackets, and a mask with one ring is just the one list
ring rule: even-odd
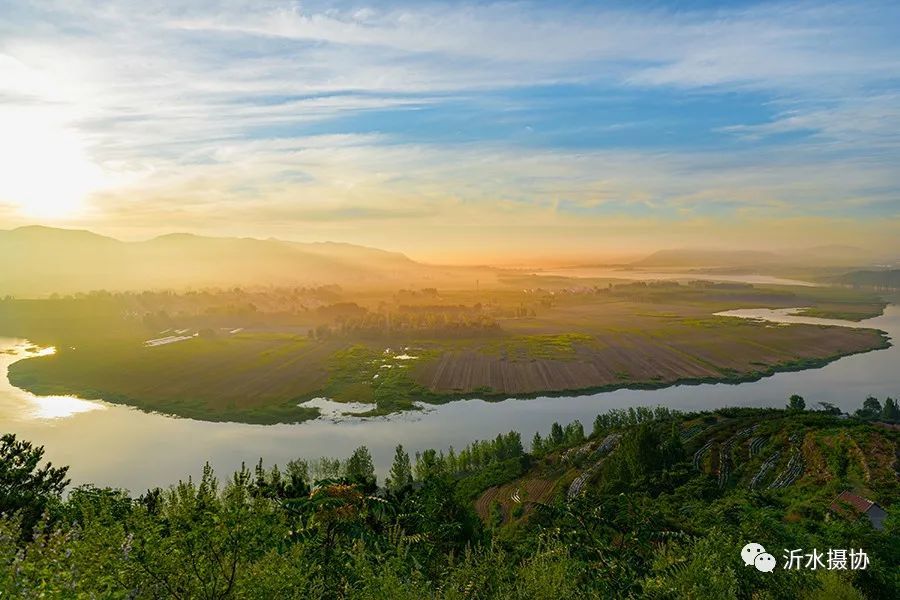
{"label": "terraced hillside with crop rows above the red-roofed house at right", "polygon": [[[617,411],[612,419],[598,418],[585,442],[532,456],[527,471],[478,497],[482,518],[502,514],[502,526],[509,526],[531,518],[539,505],[577,503],[580,496],[636,485],[670,501],[687,490],[699,494],[692,501],[755,498],[785,521],[846,518],[829,507],[847,490],[900,506],[900,431],[823,411]],[[635,470],[635,462],[649,472]]]}

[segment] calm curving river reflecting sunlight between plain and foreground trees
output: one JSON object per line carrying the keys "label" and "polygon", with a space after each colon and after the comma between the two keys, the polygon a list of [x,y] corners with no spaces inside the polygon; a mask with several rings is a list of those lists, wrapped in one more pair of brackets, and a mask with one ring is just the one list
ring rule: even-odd
{"label": "calm curving river reflecting sunlight between plain and foreground trees", "polygon": [[[860,324],[788,315],[786,310],[741,310],[727,314],[773,321],[841,324],[882,329],[900,340],[900,307]],[[34,349],[25,340],[0,338],[0,369]],[[594,416],[611,408],[667,406],[683,410],[722,406],[783,406],[791,394],[807,406],[831,402],[853,410],[866,396],[900,397],[900,348],[848,356],[821,369],[779,373],[742,384],[617,390],[586,396],[485,402],[462,400],[377,419],[317,419],[296,425],[209,423],[141,412],[126,406],[66,397],[36,397],[0,380],[0,431],[42,444],[54,464],[70,465],[74,484],[124,487],[140,493],[196,476],[207,461],[220,475],[260,457],[283,465],[292,458],[345,457],[365,444],[383,476],[394,447],[407,450],[465,446],[515,429],[526,442],[546,434],[553,421],[580,419],[590,431]]]}

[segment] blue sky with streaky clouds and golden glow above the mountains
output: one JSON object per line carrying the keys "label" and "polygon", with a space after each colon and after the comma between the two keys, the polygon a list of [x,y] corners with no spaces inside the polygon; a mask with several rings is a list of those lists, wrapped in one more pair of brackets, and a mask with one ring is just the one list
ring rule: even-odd
{"label": "blue sky with streaky clouds and golden glow above the mountains", "polygon": [[900,253],[900,4],[0,0],[0,229]]}

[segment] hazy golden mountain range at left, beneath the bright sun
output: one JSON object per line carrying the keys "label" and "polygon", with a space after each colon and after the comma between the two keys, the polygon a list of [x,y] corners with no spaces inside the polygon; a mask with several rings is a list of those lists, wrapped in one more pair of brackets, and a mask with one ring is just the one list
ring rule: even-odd
{"label": "hazy golden mountain range at left, beneath the bright sun", "polygon": [[338,243],[171,234],[122,242],[89,231],[0,231],[0,295],[214,285],[404,282],[436,267],[403,254]]}

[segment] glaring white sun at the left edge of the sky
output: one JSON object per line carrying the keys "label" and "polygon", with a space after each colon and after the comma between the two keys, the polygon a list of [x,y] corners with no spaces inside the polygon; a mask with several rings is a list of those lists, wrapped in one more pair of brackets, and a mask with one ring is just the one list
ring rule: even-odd
{"label": "glaring white sun at the left edge of the sky", "polygon": [[12,204],[22,216],[75,216],[102,187],[103,172],[74,131],[28,113],[0,113],[0,131],[0,203]]}

